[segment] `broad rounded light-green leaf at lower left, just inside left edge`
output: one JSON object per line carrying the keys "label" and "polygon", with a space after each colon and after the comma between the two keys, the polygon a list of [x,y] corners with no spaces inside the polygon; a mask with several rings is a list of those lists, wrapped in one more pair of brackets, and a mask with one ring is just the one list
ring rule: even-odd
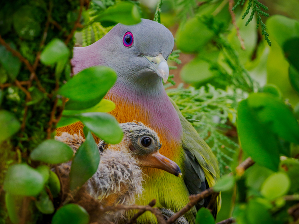
{"label": "broad rounded light-green leaf at lower left, just inside left edge", "polygon": [[36,196],[44,186],[43,176],[27,164],[8,168],[3,189],[13,195]]}

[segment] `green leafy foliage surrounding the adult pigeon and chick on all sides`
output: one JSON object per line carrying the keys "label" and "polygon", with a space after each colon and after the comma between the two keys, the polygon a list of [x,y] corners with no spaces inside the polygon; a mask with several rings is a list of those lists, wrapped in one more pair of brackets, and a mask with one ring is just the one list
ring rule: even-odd
{"label": "green leafy foliage surrounding the adult pigeon and chick on all sides", "polygon": [[[55,214],[56,223],[74,211],[77,220],[88,222],[79,206],[54,213],[48,192],[55,197],[60,184],[49,167],[70,159],[80,167],[76,161],[84,159],[89,169],[80,174],[74,168],[72,174],[72,188],[82,186],[100,159],[88,157],[96,150],[91,132],[111,143],[122,133],[105,113],[114,109],[113,102],[102,100],[116,79],[114,71],[95,67],[70,79],[72,47],[90,45],[116,23],[135,24],[140,17],[161,22],[175,36],[177,50],[169,64],[180,78],[170,76],[165,89],[219,161],[217,221],[233,216],[238,224],[298,222],[290,213],[299,201],[298,10],[296,0],[1,2],[0,223],[23,219],[18,204],[28,197],[36,198],[27,211],[30,223],[42,214]],[[95,73],[100,75],[93,82],[102,92],[90,94],[89,82],[74,89]],[[57,125],[78,120],[87,140],[73,156],[51,138]],[[51,147],[56,157],[45,150]],[[256,164],[245,173],[236,171],[248,156]],[[214,223],[209,215],[199,211],[197,222]]]}

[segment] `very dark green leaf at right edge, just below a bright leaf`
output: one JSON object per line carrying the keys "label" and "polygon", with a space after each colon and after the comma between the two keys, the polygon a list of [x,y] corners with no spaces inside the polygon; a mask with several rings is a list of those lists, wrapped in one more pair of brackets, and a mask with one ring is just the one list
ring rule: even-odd
{"label": "very dark green leaf at right edge, just below a bright leaf", "polygon": [[285,56],[289,62],[299,71],[299,33],[297,38],[289,39],[284,43]]}

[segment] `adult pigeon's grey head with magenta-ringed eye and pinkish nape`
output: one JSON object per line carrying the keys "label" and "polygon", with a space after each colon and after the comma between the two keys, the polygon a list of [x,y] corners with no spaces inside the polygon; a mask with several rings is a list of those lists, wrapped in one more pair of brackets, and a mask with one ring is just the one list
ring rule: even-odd
{"label": "adult pigeon's grey head with magenta-ringed eye and pinkish nape", "polygon": [[161,86],[161,80],[168,78],[173,45],[171,32],[160,23],[148,19],[129,26],[119,23],[97,42],[75,47],[72,64],[75,73],[105,65],[117,72],[120,83]]}

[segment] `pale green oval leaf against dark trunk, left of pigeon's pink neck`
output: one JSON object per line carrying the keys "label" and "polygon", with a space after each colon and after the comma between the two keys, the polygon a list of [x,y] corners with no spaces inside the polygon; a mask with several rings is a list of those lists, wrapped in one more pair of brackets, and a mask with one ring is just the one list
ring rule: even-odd
{"label": "pale green oval leaf against dark trunk, left of pigeon's pink neck", "polygon": [[69,49],[65,43],[57,38],[52,39],[40,54],[40,61],[44,65],[54,65],[59,61],[64,61],[69,56]]}

